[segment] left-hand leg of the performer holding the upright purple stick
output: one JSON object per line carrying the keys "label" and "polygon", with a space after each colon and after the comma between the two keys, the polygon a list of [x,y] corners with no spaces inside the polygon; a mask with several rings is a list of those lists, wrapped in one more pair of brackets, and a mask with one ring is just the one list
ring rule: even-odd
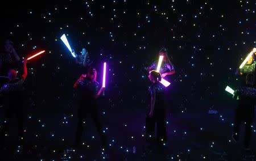
{"label": "left-hand leg of the performer holding the upright purple stick", "polygon": [[82,137],[82,131],[84,128],[84,121],[86,118],[86,111],[82,110],[83,107],[80,107],[78,111],[78,122],[77,122],[77,129],[76,129],[76,139],[75,139],[75,145],[79,145],[79,142],[81,141]]}

